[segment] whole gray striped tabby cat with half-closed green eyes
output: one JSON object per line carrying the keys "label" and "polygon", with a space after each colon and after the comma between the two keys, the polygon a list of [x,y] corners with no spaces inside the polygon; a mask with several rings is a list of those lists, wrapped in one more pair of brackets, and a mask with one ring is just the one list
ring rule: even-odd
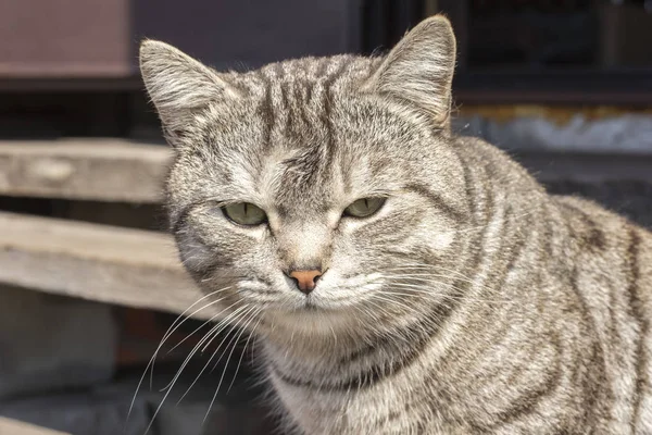
{"label": "whole gray striped tabby cat with half-closed green eyes", "polygon": [[652,433],[652,235],[450,133],[446,18],[383,59],[140,55],[181,259],[288,427]]}

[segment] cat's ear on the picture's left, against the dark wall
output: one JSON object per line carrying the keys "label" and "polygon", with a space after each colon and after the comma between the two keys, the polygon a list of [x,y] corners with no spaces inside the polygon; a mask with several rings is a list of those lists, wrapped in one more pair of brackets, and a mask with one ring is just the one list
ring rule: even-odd
{"label": "cat's ear on the picture's left, against the dark wall", "polygon": [[165,42],[142,41],[140,73],[173,146],[198,111],[211,102],[237,98],[217,72]]}

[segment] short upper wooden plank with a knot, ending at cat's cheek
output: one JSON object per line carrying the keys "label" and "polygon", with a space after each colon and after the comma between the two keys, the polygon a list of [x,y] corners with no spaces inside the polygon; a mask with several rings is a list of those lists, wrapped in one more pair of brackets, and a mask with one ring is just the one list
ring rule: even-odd
{"label": "short upper wooden plank with a knot, ending at cat's cheek", "polygon": [[156,203],[171,159],[117,139],[0,141],[0,195]]}

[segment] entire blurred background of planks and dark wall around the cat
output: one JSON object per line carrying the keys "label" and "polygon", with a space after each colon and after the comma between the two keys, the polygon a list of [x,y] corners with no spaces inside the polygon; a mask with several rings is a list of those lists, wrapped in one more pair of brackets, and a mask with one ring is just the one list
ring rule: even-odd
{"label": "entire blurred background of planks and dark wall around the cat", "polygon": [[141,38],[243,71],[383,53],[438,12],[459,39],[455,130],[652,227],[651,0],[0,2],[0,434],[269,433],[238,331],[166,388],[210,315],[173,325],[200,295],[165,234]]}

